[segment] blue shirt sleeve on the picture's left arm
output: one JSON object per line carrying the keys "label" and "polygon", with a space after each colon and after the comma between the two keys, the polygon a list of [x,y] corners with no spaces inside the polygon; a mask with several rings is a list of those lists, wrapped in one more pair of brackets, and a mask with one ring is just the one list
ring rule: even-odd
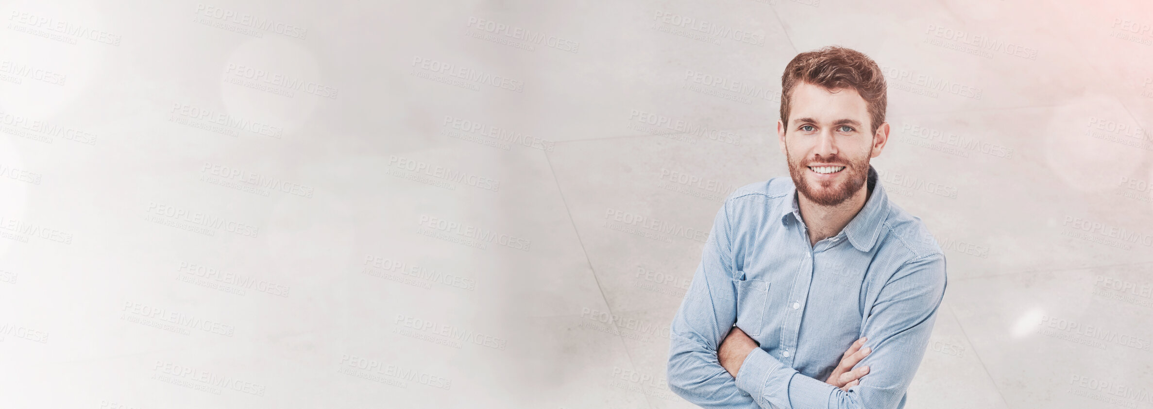
{"label": "blue shirt sleeve on the picture's left arm", "polygon": [[737,321],[728,205],[717,212],[670,327],[669,388],[703,408],[760,408],[717,361],[717,347]]}

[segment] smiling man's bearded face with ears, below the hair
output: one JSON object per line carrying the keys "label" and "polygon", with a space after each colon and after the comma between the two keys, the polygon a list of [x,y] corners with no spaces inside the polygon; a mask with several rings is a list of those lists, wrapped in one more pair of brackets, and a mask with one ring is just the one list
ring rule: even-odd
{"label": "smiling man's bearded face with ears, below the hair", "polygon": [[869,158],[881,154],[889,124],[877,128],[876,138],[871,130],[868,106],[857,90],[797,84],[789,123],[777,121],[797,190],[823,206],[852,197],[867,182]]}

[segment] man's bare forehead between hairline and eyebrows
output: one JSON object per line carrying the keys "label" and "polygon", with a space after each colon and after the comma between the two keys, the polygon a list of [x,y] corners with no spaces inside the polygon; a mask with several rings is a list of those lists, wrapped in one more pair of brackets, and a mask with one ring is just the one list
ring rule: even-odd
{"label": "man's bare forehead between hairline and eyebrows", "polygon": [[807,82],[793,88],[792,104],[789,107],[789,120],[812,118],[819,121],[839,119],[868,119],[868,104],[857,90],[842,88],[828,90]]}

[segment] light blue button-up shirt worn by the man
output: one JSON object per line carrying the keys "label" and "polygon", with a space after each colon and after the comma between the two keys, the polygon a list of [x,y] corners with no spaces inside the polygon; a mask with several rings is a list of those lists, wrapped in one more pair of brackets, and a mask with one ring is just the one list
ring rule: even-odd
{"label": "light blue button-up shirt worn by the man", "polygon": [[[945,259],[920,218],[889,202],[869,166],[865,206],[811,244],[791,177],[737,189],[717,212],[671,325],[669,387],[706,408],[905,406],[944,296]],[[760,343],[733,379],[717,347],[733,324]],[[861,336],[869,373],[824,379]]]}

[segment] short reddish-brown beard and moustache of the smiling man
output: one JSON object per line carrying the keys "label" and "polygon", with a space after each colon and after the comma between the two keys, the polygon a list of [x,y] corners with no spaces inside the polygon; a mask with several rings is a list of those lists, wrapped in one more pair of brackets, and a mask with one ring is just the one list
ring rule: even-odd
{"label": "short reddish-brown beard and moustache of the smiling man", "polygon": [[[802,160],[793,161],[791,154],[789,154],[789,147],[785,146],[785,160],[789,161],[789,175],[792,176],[793,184],[797,185],[797,191],[805,195],[809,200],[822,206],[836,206],[850,197],[853,196],[858,190],[860,190],[866,182],[868,182],[868,159],[869,156],[865,156],[865,159],[852,161],[844,160],[839,156],[831,156],[828,158],[804,158]],[[805,176],[812,171],[808,169],[808,164],[811,162],[827,162],[827,164],[846,164],[845,168],[841,171],[845,173],[844,177],[838,177],[837,181],[814,181],[809,182]],[[809,184],[812,183],[812,184]]]}

